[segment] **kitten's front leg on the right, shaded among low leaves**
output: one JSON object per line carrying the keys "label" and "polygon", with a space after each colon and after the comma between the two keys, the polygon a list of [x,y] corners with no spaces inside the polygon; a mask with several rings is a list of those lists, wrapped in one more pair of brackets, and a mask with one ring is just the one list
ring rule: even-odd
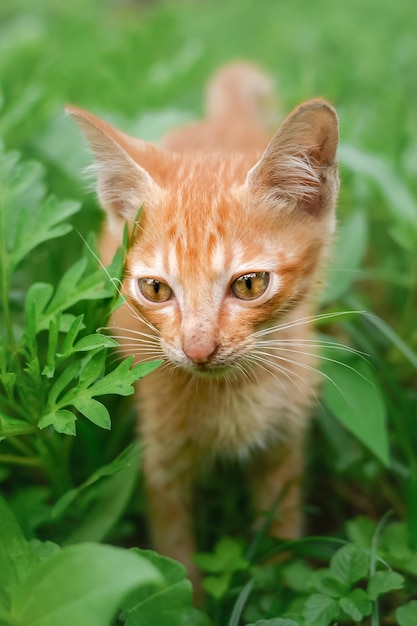
{"label": "kitten's front leg on the right, shaded among low leaves", "polygon": [[301,478],[302,437],[280,443],[253,460],[251,482],[257,525],[275,508],[268,534],[279,539],[297,539],[303,526]]}

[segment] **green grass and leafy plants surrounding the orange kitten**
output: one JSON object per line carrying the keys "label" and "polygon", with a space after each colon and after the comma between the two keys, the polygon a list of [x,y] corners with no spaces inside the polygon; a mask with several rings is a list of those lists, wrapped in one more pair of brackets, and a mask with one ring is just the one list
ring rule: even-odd
{"label": "green grass and leafy plants surrounding the orange kitten", "polygon": [[[103,578],[95,614],[87,576],[70,623],[115,624],[118,607],[128,626],[417,623],[416,23],[412,0],[1,3],[0,624],[28,626],[38,612],[37,626],[57,626],[46,589],[58,572],[81,593],[74,554],[126,576],[110,595]],[[111,342],[95,335],[117,294],[90,252],[101,213],[63,109],[157,140],[202,114],[208,75],[233,58],[272,74],[283,112],[319,95],[339,112],[339,234],[322,309],[367,313],[319,331],[367,356],[327,355],[348,366],[323,369],[351,401],[325,383],[306,450],[303,541],[253,536],[237,468],[202,486],[209,592],[199,613],[176,564],[95,549],[146,546],[135,416],[120,397],[144,372],[110,353],[106,366]],[[120,271],[118,258],[109,272]],[[83,542],[93,544],[70,549]],[[285,562],[263,558],[284,549]],[[156,570],[166,582],[155,595]],[[36,591],[34,613],[19,588]]]}

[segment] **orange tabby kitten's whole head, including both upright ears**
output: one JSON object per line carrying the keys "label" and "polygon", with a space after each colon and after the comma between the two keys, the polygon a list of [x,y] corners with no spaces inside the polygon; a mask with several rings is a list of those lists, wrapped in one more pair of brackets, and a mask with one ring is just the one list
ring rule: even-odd
{"label": "orange tabby kitten's whole head, including both upright ears", "polygon": [[169,153],[69,112],[93,149],[116,239],[143,205],[125,289],[155,329],[153,341],[166,360],[195,373],[242,367],[255,333],[315,289],[335,221],[334,109],[307,102],[262,155],[227,157]]}

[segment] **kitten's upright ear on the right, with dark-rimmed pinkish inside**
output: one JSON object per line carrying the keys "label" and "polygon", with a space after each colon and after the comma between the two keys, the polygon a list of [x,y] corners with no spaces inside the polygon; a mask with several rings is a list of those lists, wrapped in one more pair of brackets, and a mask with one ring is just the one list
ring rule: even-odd
{"label": "kitten's upright ear on the right, with dark-rimmed pinkish inside", "polygon": [[248,185],[272,202],[296,203],[310,215],[333,208],[338,190],[336,111],[325,100],[295,109],[275,133]]}

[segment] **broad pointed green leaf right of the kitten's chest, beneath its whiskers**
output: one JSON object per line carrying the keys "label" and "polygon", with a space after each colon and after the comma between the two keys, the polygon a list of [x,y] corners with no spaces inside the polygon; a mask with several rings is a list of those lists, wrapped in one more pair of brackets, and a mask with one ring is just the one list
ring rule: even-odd
{"label": "broad pointed green leaf right of the kitten's chest, beneath its whiskers", "polygon": [[389,464],[386,409],[371,367],[359,359],[348,366],[326,361],[324,399],[338,420],[384,464]]}

